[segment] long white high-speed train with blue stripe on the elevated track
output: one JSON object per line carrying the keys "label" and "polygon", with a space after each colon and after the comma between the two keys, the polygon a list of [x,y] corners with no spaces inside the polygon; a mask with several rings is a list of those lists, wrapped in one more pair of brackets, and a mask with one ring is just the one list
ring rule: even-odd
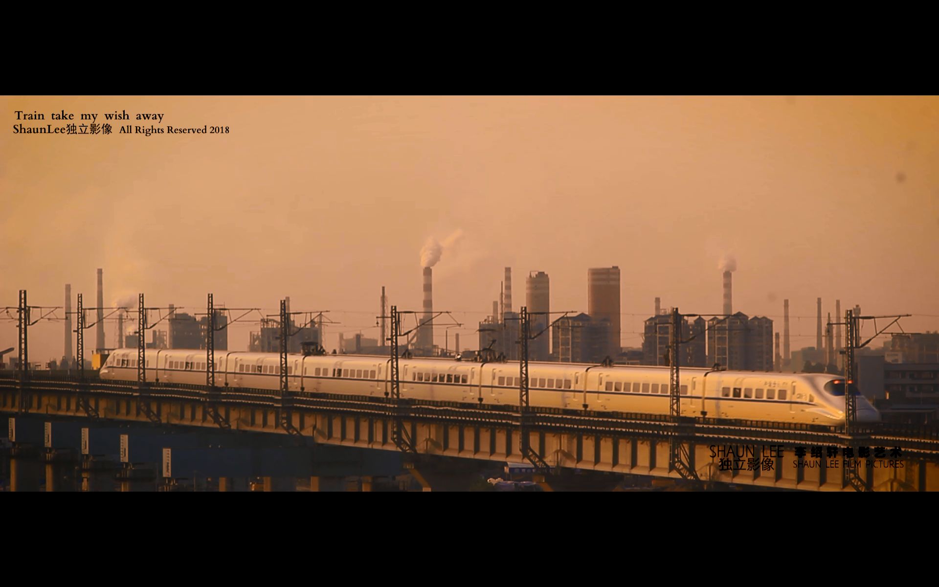
{"label": "long white high-speed train with blue stripe on the elevated track", "polygon": [[[242,351],[215,353],[216,385],[280,388],[280,355]],[[517,362],[474,363],[453,359],[399,360],[401,396],[406,398],[518,405]],[[205,350],[146,350],[147,380],[206,383]],[[292,392],[373,395],[391,388],[391,360],[371,355],[287,355]],[[529,363],[532,407],[669,413],[669,368],[584,363]],[[136,380],[137,349],[121,348],[100,370],[102,379]],[[808,373],[715,371],[683,367],[682,415],[737,420],[844,424],[844,379]],[[879,412],[859,394],[857,420],[876,422]]]}

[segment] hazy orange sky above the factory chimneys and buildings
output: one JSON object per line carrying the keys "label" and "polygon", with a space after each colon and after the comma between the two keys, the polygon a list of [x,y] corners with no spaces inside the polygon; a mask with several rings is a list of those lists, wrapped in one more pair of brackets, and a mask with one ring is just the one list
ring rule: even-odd
{"label": "hazy orange sky above the factory chimneys and buildings", "polygon": [[[817,297],[825,312],[839,298],[939,330],[934,97],[0,100],[0,306],[21,288],[62,305],[66,283],[92,305],[100,267],[109,304],[143,291],[202,312],[212,291],[269,314],[284,296],[331,310],[334,348],[337,332],[377,335],[381,286],[420,309],[423,242],[462,229],[434,294],[465,348],[506,266],[516,308],[525,275],[545,270],[553,309],[586,311],[587,269],[618,265],[623,346],[639,346],[655,296],[720,311],[725,254],[734,310],[778,317],[781,332],[791,300],[793,349],[814,345]],[[60,109],[230,132],[12,132],[16,110],[57,126]],[[250,330],[233,327],[229,348]],[[61,356],[61,323],[30,337],[33,361]],[[0,348],[15,345],[15,322],[0,322]]]}

